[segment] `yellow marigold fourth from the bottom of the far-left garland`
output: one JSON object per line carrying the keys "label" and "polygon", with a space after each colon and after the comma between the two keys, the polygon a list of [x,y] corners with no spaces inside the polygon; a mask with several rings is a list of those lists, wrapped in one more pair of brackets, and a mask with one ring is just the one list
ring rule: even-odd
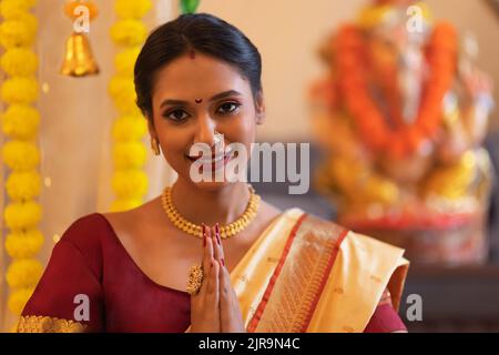
{"label": "yellow marigold fourth from the bottom of the far-left garland", "polygon": [[41,220],[41,205],[34,201],[9,203],[3,211],[7,226],[13,232],[34,229]]}

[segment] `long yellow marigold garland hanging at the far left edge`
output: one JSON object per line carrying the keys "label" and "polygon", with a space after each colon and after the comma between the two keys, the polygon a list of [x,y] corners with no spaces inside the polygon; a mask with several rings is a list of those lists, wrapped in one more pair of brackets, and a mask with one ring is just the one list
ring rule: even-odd
{"label": "long yellow marigold garland hanging at the far left edge", "polygon": [[8,307],[20,315],[42,271],[35,258],[43,245],[38,230],[42,207],[37,202],[41,190],[38,173],[40,151],[37,135],[40,113],[32,104],[39,97],[35,79],[39,60],[30,48],[35,40],[38,20],[31,13],[34,0],[2,0],[0,45],[4,53],[0,67],[8,75],[1,85],[1,99],[9,105],[0,115],[2,133],[8,138],[1,149],[2,162],[9,168],[6,190],[9,196],[2,216],[9,229],[4,241],[12,262],[6,280],[10,287]]}

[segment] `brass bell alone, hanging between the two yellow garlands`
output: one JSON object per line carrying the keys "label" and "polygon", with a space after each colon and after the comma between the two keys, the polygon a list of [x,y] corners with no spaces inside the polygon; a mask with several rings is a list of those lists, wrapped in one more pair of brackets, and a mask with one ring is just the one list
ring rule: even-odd
{"label": "brass bell alone, hanging between the two yellow garlands", "polygon": [[73,32],[69,37],[60,72],[68,77],[88,77],[99,73],[89,39],[84,33]]}

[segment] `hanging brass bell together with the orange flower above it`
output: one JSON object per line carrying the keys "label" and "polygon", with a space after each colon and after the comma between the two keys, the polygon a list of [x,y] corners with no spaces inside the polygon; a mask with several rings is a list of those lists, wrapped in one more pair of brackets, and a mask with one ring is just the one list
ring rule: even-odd
{"label": "hanging brass bell together with the orange flower above it", "polygon": [[73,33],[65,42],[65,54],[61,74],[68,77],[96,75],[99,67],[85,33],[90,32],[90,21],[98,16],[92,0],[72,0],[64,6],[64,13],[73,23]]}

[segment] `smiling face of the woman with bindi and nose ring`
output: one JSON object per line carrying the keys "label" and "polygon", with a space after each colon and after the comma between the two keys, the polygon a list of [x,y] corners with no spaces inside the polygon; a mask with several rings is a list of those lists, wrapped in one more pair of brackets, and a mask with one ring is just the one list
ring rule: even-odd
{"label": "smiling face of the woman with bindi and nose ring", "polygon": [[[195,143],[214,146],[215,131],[224,135],[225,148],[241,143],[249,156],[256,124],[262,123],[264,115],[263,99],[258,97],[255,102],[248,80],[234,67],[197,52],[185,54],[155,75],[154,125],[150,124],[150,133],[157,138],[163,155],[179,179],[192,183],[190,172],[196,156],[190,150]],[[214,187],[224,183],[196,184]]]}

